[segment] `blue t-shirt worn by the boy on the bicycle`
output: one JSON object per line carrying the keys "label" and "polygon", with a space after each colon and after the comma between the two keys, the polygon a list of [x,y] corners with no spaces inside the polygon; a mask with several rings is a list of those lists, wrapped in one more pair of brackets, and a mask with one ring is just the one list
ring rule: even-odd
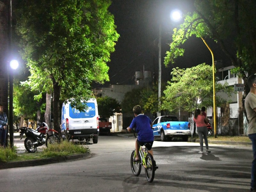
{"label": "blue t-shirt worn by the boy on the bicycle", "polygon": [[130,128],[135,127],[135,131],[138,133],[138,140],[140,142],[151,142],[154,141],[153,130],[151,129],[152,121],[146,115],[138,115],[132,120]]}

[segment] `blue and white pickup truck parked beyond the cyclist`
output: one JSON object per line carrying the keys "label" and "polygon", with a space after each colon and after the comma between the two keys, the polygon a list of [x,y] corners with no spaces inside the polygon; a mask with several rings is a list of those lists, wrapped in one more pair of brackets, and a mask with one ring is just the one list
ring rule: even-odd
{"label": "blue and white pickup truck parked beyond the cyclist", "polygon": [[176,116],[159,116],[153,122],[153,134],[155,138],[166,141],[167,138],[181,137],[182,141],[188,141],[190,124],[187,121],[179,121]]}

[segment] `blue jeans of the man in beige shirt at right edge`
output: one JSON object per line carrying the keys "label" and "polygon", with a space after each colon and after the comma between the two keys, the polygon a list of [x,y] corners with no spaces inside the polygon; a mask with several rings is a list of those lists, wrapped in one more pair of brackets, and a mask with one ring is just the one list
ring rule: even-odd
{"label": "blue jeans of the man in beige shirt at right edge", "polygon": [[251,188],[256,189],[256,133],[248,134],[249,139],[252,141],[252,172],[251,172]]}

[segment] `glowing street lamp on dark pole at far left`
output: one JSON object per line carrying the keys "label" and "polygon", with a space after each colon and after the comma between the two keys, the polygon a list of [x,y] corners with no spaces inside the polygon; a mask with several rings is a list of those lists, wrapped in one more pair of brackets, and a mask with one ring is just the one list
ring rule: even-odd
{"label": "glowing street lamp on dark pole at far left", "polygon": [[19,62],[11,60],[9,71],[9,132],[10,132],[10,146],[13,147],[13,70],[17,69]]}

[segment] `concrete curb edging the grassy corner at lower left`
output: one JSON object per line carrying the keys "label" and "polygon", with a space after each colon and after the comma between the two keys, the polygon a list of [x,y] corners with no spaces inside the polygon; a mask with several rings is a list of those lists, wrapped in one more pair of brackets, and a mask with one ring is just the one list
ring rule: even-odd
{"label": "concrete curb edging the grassy corner at lower left", "polygon": [[53,158],[46,158],[46,159],[35,159],[35,160],[27,160],[27,161],[15,161],[15,162],[3,162],[0,164],[0,169],[9,169],[15,167],[28,167],[28,166],[38,166],[38,165],[45,165],[45,164],[52,164],[52,163],[60,163],[60,162],[67,162],[82,158],[89,158],[91,156],[90,153],[84,154],[76,154],[70,156],[60,156],[60,157],[53,157]]}

